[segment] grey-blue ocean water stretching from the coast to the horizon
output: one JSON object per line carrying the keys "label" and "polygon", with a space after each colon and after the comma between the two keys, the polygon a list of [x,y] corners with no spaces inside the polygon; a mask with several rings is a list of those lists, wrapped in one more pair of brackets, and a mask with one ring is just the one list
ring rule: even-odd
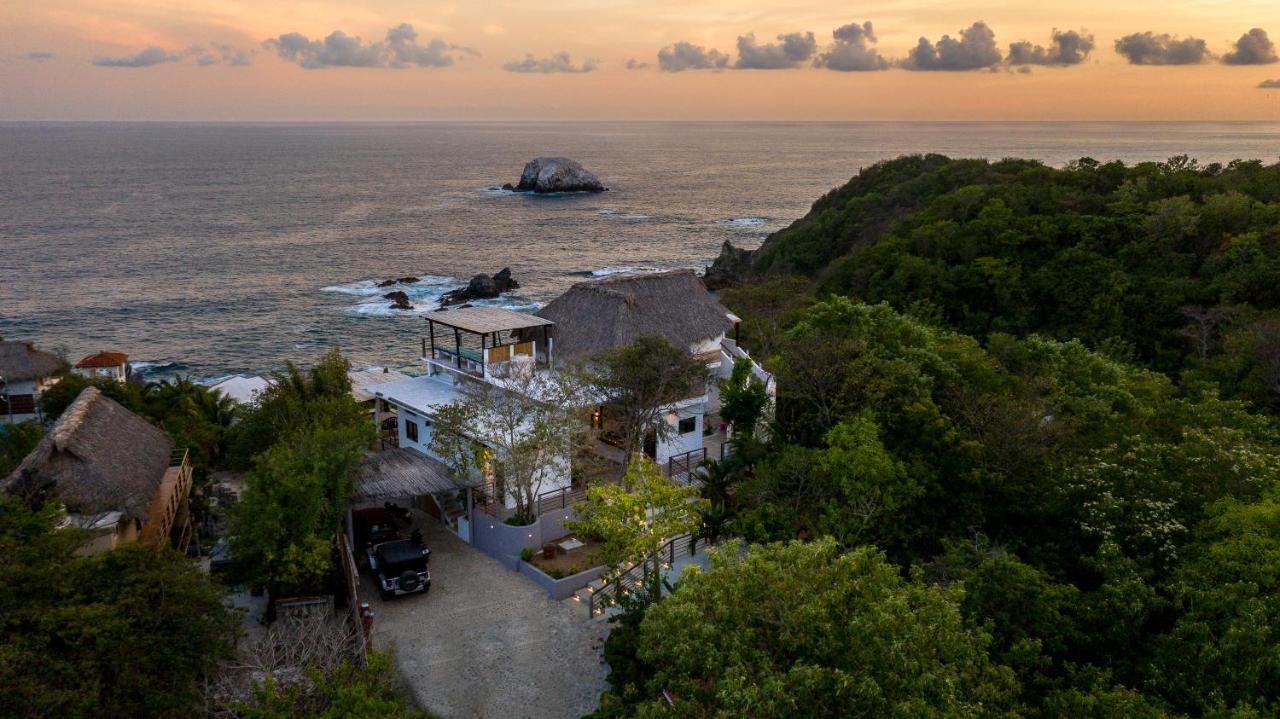
{"label": "grey-blue ocean water stretching from the coast to the horizon", "polygon": [[[536,308],[584,278],[758,246],[910,152],[1275,161],[1260,123],[0,124],[0,336],[207,379],[415,362],[422,312],[509,266]],[[564,155],[611,188],[495,191]],[[411,312],[389,310],[379,280]]]}

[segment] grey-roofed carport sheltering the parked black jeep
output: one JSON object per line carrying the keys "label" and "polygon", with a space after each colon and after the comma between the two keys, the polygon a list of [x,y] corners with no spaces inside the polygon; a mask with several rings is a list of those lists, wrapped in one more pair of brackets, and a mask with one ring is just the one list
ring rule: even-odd
{"label": "grey-roofed carport sheltering the parked black jeep", "polygon": [[[439,459],[416,449],[396,446],[370,452],[356,473],[356,491],[347,503],[347,536],[355,536],[352,510],[357,505],[396,499],[412,499],[419,504],[430,498],[440,523],[470,542],[472,490],[481,484],[483,480],[457,476]],[[458,503],[457,495],[463,490],[466,502]]]}

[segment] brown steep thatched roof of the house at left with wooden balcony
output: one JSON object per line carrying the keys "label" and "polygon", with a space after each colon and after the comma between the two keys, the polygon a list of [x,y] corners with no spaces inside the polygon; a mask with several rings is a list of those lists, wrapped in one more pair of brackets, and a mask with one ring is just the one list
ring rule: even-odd
{"label": "brown steep thatched roof of the house at left with wooden balcony", "polygon": [[173,448],[173,440],[146,420],[97,388],[84,388],[9,475],[5,491],[55,490],[77,514],[115,510],[147,519]]}

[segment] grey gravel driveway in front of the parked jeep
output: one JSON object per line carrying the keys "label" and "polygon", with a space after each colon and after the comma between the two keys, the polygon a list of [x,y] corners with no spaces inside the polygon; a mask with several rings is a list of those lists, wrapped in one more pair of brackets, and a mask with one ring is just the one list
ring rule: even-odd
{"label": "grey gravel driveway in front of the parked jeep", "polygon": [[431,590],[389,601],[364,578],[374,646],[396,664],[424,709],[442,718],[579,718],[604,691],[600,645],[608,624],[553,601],[440,527],[421,525]]}

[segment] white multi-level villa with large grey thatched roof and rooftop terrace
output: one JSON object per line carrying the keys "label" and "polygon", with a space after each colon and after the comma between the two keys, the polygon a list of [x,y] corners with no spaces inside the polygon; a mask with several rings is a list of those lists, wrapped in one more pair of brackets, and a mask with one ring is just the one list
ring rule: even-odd
{"label": "white multi-level villa with large grey thatched roof and rooftop terrace", "polygon": [[[660,421],[672,431],[653,432],[645,453],[672,476],[684,476],[707,458],[719,458],[727,441],[718,417],[717,381],[728,376],[733,361],[748,357],[727,335],[739,319],[726,310],[703,285],[692,270],[644,275],[616,275],[584,281],[570,288],[536,313],[498,307],[461,307],[425,315],[426,334],[421,339],[425,374],[385,384],[367,385],[376,398],[374,421],[379,427],[394,426],[384,435],[380,466],[406,486],[434,489],[434,503],[419,507],[438,514],[463,539],[479,522],[474,508],[463,505],[470,493],[484,487],[492,496],[493,478],[453,478],[431,446],[433,416],[438,408],[463,398],[467,383],[486,383],[506,388],[513,372],[554,372],[570,360],[594,357],[630,344],[641,336],[664,336],[677,347],[707,362],[707,383],[700,393],[660,409]],[[754,367],[756,376],[773,393],[773,379]],[[598,436],[598,452],[607,459],[625,459],[616,446],[620,440],[611,427],[608,407],[585,407]],[[394,416],[396,422],[388,420]],[[557,471],[543,482],[539,513],[544,507],[566,509],[582,487],[572,486],[568,458],[557,458]],[[372,476],[362,484],[376,484]],[[403,484],[402,482],[402,484]],[[479,482],[479,484],[477,484]],[[366,491],[364,499],[374,500]],[[384,495],[376,495],[384,496]],[[506,508],[513,508],[507,500]],[[500,509],[499,509],[500,513]],[[567,516],[567,512],[562,512]],[[492,527],[490,527],[492,528]],[[532,535],[530,535],[531,537]]]}

